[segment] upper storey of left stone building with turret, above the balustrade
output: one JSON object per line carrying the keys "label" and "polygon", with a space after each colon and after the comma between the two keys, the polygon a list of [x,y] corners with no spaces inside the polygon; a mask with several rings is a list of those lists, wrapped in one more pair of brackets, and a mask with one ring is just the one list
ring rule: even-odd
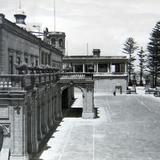
{"label": "upper storey of left stone building with turret, above the balustrade", "polygon": [[15,17],[18,25],[5,19],[3,14],[0,15],[0,74],[16,74],[16,67],[24,64],[61,70],[65,33],[47,32],[43,41],[24,28],[24,14],[15,14]]}

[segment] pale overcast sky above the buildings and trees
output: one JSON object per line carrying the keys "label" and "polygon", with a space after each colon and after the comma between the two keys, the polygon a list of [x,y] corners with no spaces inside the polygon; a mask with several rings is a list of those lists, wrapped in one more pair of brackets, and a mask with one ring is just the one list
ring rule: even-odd
{"label": "pale overcast sky above the buildings and trees", "polygon": [[[0,0],[0,12],[14,21],[19,0]],[[22,0],[28,24],[53,30],[54,0]],[[56,31],[66,33],[68,54],[86,55],[93,48],[102,55],[123,55],[123,43],[133,37],[146,47],[160,20],[160,0],[56,0]]]}

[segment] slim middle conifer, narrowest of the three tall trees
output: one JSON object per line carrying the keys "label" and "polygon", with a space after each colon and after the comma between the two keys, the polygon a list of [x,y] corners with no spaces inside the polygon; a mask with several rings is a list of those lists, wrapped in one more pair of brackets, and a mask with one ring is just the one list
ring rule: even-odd
{"label": "slim middle conifer, narrowest of the three tall trees", "polygon": [[141,47],[139,53],[137,54],[138,57],[139,57],[139,69],[140,69],[140,72],[139,72],[139,77],[140,77],[140,83],[139,85],[140,86],[143,86],[143,74],[144,74],[144,69],[146,68],[146,65],[145,65],[145,62],[146,62],[146,54],[143,50],[143,47]]}

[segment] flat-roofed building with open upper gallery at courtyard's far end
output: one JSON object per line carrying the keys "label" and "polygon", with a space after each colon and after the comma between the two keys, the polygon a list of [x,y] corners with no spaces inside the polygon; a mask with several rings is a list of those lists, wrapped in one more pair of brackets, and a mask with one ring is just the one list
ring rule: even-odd
{"label": "flat-roofed building with open upper gallery at courtyard's far end", "polygon": [[99,49],[90,56],[65,56],[63,70],[74,73],[93,73],[95,92],[126,93],[127,57],[101,56]]}

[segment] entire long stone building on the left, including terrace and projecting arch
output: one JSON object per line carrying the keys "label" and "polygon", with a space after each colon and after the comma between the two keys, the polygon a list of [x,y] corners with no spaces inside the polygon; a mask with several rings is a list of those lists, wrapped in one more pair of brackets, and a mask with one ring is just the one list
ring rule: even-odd
{"label": "entire long stone building on the left, including terrace and projecting arch", "polygon": [[94,81],[62,75],[65,33],[46,29],[42,40],[26,30],[23,12],[15,18],[0,14],[0,159],[29,160],[72,104],[74,86],[83,93],[83,118],[95,117]]}

